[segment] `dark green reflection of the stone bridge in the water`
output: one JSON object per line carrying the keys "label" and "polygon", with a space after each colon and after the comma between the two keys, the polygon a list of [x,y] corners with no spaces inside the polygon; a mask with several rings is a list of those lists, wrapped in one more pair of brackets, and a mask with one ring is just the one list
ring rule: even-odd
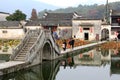
{"label": "dark green reflection of the stone bridge in the water", "polygon": [[55,80],[59,66],[59,61],[49,61],[27,70],[1,76],[0,80]]}

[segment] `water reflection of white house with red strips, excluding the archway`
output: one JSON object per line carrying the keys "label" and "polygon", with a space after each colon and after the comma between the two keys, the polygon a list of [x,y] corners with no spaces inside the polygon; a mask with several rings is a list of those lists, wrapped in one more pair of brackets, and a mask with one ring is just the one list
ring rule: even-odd
{"label": "water reflection of white house with red strips, excluding the archway", "polygon": [[101,63],[101,55],[97,53],[95,50],[91,50],[86,53],[79,54],[74,57],[75,65],[93,65],[100,66]]}

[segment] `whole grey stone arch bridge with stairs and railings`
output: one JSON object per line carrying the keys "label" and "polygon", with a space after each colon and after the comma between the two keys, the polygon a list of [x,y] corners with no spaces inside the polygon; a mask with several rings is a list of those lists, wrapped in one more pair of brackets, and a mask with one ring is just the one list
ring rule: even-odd
{"label": "whole grey stone arch bridge with stairs and railings", "polygon": [[13,49],[11,61],[23,61],[36,65],[42,60],[53,60],[60,53],[50,30],[28,30],[21,43]]}

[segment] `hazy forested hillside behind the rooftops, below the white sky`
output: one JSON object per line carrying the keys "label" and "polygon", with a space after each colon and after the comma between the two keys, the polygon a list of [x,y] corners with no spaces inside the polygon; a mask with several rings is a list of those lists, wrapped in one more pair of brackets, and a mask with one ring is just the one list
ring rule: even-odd
{"label": "hazy forested hillside behind the rooftops, below the white sky", "polygon": [[[109,9],[114,9],[120,11],[120,1],[119,2],[112,2],[108,5]],[[72,13],[77,12],[83,17],[93,18],[93,19],[103,19],[106,14],[106,5],[79,5],[78,7],[68,7],[65,9],[56,9],[56,10],[43,10],[39,12],[39,18],[45,12],[53,12],[53,13]]]}

